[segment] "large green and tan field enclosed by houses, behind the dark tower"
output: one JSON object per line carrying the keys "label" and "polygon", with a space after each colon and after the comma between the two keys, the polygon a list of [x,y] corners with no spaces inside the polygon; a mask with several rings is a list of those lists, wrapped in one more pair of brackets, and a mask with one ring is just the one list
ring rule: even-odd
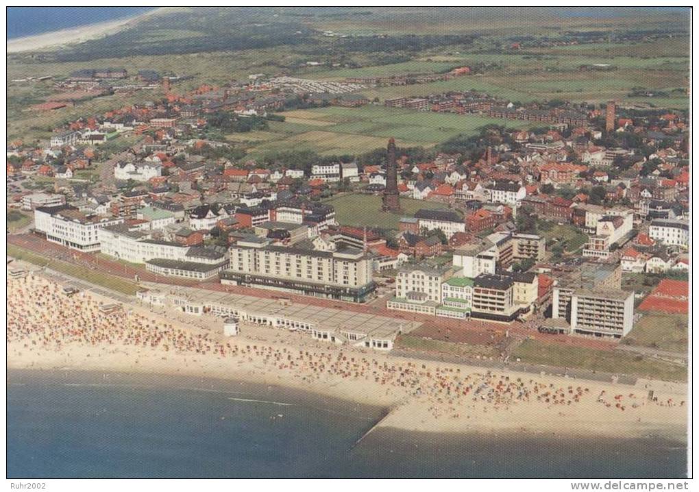
{"label": "large green and tan field enclosed by houses, behind the dark tower", "polygon": [[274,150],[315,150],[319,154],[363,153],[384,147],[390,137],[402,147],[432,147],[453,136],[475,134],[480,126],[512,128],[528,122],[496,120],[475,115],[430,113],[384,106],[315,108],[282,113],[284,122],[270,122],[268,131],[237,134],[230,140],[247,142],[255,157]]}

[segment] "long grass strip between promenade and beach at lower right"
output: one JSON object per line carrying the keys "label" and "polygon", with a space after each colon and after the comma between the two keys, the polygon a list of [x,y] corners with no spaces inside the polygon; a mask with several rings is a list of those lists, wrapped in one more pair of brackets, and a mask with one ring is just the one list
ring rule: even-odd
{"label": "long grass strip between promenade and beach at lower right", "polygon": [[605,352],[582,347],[565,347],[539,340],[525,340],[512,353],[512,359],[517,357],[530,364],[653,377],[665,381],[686,381],[687,377],[686,368],[657,359],[620,351]]}

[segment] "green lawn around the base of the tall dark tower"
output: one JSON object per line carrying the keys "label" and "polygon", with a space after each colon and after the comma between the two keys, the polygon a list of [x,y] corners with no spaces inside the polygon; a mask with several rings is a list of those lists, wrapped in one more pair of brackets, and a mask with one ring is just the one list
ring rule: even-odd
{"label": "green lawn around the base of the tall dark tower", "polygon": [[400,212],[383,212],[380,196],[361,194],[333,196],[324,203],[335,207],[336,220],[343,226],[367,226],[394,230],[398,229],[398,221],[401,217],[412,216],[421,208],[447,208],[444,203],[401,197]]}

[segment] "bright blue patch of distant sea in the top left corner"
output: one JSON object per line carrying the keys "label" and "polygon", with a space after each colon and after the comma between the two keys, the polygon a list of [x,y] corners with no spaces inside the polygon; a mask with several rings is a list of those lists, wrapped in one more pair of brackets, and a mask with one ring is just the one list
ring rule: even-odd
{"label": "bright blue patch of distant sea in the top left corner", "polygon": [[8,7],[7,39],[119,20],[155,7]]}

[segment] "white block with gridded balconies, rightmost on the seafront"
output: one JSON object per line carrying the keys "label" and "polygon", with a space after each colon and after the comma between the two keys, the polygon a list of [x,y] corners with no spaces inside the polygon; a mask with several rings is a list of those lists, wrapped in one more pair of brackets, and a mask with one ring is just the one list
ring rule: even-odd
{"label": "white block with gridded balconies, rightmost on the seafront", "polygon": [[581,289],[570,300],[570,330],[621,338],[633,328],[633,291]]}

